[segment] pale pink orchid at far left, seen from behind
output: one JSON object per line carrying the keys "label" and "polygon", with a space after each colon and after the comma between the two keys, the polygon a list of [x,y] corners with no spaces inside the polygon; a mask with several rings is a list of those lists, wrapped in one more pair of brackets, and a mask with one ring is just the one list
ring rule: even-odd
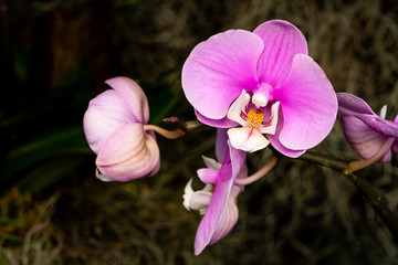
{"label": "pale pink orchid at far left, seen from behind", "polygon": [[113,89],[93,98],[84,114],[84,132],[97,155],[97,177],[104,181],[129,181],[159,170],[155,134],[145,130],[148,100],[140,86],[127,77],[105,82]]}

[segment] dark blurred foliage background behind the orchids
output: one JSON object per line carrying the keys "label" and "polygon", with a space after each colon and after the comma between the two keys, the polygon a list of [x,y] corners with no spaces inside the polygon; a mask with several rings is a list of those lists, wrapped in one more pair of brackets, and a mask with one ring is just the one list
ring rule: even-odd
{"label": "dark blurred foliage background behind the orchids", "polygon": [[[387,104],[392,119],[395,1],[3,2],[9,34],[0,31],[0,264],[396,264],[397,243],[350,182],[290,159],[245,188],[237,226],[195,257],[200,216],[182,208],[181,195],[205,166],[200,155],[213,156],[214,130],[174,141],[157,137],[157,176],[103,183],[82,129],[88,100],[117,75],[145,89],[151,123],[195,118],[180,87],[191,49],[220,31],[253,30],[270,19],[289,20],[305,34],[310,55],[337,92],[356,94],[375,110]],[[357,159],[339,123],[317,150]],[[250,172],[268,156],[250,155]],[[398,211],[396,157],[359,173]],[[34,197],[11,192],[15,186]]]}

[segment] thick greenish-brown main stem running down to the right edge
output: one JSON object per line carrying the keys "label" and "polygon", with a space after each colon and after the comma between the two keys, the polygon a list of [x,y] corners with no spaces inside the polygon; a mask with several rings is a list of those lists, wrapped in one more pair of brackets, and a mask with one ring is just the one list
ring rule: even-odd
{"label": "thick greenish-brown main stem running down to the right edge", "polygon": [[335,159],[314,151],[306,151],[298,159],[310,162],[315,162],[341,172],[350,182],[353,182],[358,190],[366,198],[366,201],[371,204],[375,211],[379,214],[392,236],[398,242],[398,216],[387,206],[387,201],[378,194],[377,190],[362,176],[349,172],[349,162]]}

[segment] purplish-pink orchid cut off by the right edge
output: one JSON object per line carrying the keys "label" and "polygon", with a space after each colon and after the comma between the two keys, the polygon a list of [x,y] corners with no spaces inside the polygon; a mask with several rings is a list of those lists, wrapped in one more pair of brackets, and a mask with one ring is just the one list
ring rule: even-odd
{"label": "purplish-pink orchid cut off by the right edge", "polygon": [[375,114],[362,98],[348,93],[337,93],[338,116],[345,138],[365,161],[352,162],[358,170],[374,162],[388,162],[391,150],[398,151],[398,116],[394,121],[385,119],[387,106],[380,116]]}

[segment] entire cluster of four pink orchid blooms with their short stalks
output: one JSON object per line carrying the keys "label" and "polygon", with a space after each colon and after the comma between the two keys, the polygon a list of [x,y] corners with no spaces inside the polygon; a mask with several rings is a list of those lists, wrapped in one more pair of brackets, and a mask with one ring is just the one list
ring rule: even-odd
{"label": "entire cluster of four pink orchid blooms with their short stalks", "polygon": [[[96,176],[104,181],[154,176],[160,165],[154,131],[175,139],[186,128],[167,131],[148,125],[148,102],[136,82],[115,77],[105,83],[113,89],[92,99],[84,115],[84,131],[97,155]],[[182,88],[197,118],[217,128],[217,159],[203,157],[207,168],[197,171],[205,187],[195,191],[191,179],[182,195],[187,210],[203,215],[197,255],[232,230],[238,195],[277,161],[273,156],[248,176],[247,152],[271,144],[296,158],[329,134],[337,108],[346,139],[364,159],[352,162],[349,170],[389,161],[391,150],[398,151],[398,116],[386,120],[386,108],[378,116],[358,97],[337,96],[307,55],[304,35],[286,21],[268,21],[253,32],[229,30],[199,43],[184,64]]]}

